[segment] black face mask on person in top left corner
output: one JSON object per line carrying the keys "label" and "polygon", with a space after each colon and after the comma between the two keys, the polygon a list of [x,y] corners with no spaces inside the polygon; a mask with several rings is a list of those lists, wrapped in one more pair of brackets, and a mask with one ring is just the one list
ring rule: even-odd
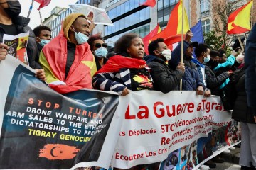
{"label": "black face mask on person in top left corner", "polygon": [[9,8],[4,8],[4,11],[10,18],[17,17],[21,13],[21,4],[19,1],[7,1]]}

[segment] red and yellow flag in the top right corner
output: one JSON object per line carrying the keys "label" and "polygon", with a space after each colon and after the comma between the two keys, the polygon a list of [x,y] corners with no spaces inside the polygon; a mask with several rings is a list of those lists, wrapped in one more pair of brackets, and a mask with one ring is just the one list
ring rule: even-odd
{"label": "red and yellow flag in the top right corner", "polygon": [[238,8],[228,17],[228,34],[240,34],[250,30],[250,9],[252,1]]}

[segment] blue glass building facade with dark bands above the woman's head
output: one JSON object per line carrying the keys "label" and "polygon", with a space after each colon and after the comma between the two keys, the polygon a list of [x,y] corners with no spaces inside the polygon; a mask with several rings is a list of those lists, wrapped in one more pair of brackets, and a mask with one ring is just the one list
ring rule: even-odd
{"label": "blue glass building facade with dark bands above the woman's head", "polygon": [[145,0],[128,0],[107,11],[114,26],[105,26],[105,42],[110,48],[124,33],[137,33],[142,38],[150,31],[150,8],[140,6]]}

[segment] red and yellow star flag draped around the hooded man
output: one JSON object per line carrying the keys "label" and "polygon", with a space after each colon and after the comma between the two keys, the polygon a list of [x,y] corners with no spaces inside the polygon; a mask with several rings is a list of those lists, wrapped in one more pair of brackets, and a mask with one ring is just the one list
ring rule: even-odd
{"label": "red and yellow star flag draped around the hooded man", "polygon": [[60,34],[43,47],[39,57],[39,63],[46,72],[46,82],[60,94],[92,89],[92,76],[97,70],[90,45],[85,43],[74,48],[75,57],[72,59],[67,50],[67,39]]}

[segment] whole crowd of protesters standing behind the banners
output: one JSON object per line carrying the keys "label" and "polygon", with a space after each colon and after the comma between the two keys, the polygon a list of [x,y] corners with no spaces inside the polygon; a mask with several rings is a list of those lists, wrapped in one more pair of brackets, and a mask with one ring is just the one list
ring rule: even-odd
{"label": "whole crowd of protesters standing behind the banners", "polygon": [[[60,34],[52,39],[50,28],[38,26],[31,30],[29,18],[19,16],[20,12],[18,1],[0,0],[0,41],[4,33],[28,31],[29,65],[35,69],[36,77],[52,89],[60,94],[100,89],[126,96],[140,90],[169,93],[181,88],[182,81],[183,91],[196,91],[196,95],[204,97],[220,96],[225,108],[233,110],[232,118],[240,121],[242,128],[241,169],[255,169],[256,25],[247,38],[245,52],[238,48],[228,57],[223,49],[191,42],[190,30],[183,43],[183,56],[181,43],[171,52],[163,38],[153,40],[146,55],[143,40],[135,33],[122,35],[115,42],[114,52],[108,52],[104,39],[91,35],[95,26],[92,18],[82,13],[67,16]],[[0,61],[8,49],[0,44]],[[205,165],[214,168],[214,162],[224,161],[215,157]]]}

